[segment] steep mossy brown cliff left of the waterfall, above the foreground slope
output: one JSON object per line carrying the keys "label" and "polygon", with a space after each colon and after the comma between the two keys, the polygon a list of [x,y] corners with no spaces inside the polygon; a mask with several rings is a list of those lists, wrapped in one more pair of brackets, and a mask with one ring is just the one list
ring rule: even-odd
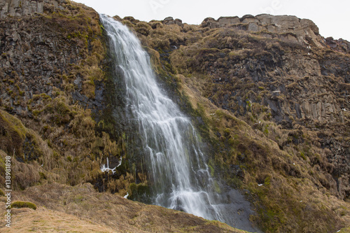
{"label": "steep mossy brown cliff left of the waterfall, above the foreground slope", "polygon": [[[99,15],[70,1],[36,3],[6,1],[1,11],[0,149],[41,170],[15,188],[98,183],[109,177],[100,170],[106,156],[111,166],[125,156],[108,108],[115,86]],[[121,180],[106,183],[124,196],[134,178],[123,171]]]}

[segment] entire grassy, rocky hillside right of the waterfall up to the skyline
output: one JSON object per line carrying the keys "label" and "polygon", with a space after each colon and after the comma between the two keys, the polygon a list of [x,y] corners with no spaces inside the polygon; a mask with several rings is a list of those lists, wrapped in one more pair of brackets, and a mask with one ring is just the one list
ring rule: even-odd
{"label": "entire grassy, rocky hillside right of the waterfall up to the skyline", "polygon": [[115,18],[209,143],[211,173],[249,191],[264,232],[349,227],[348,41],[286,15]]}

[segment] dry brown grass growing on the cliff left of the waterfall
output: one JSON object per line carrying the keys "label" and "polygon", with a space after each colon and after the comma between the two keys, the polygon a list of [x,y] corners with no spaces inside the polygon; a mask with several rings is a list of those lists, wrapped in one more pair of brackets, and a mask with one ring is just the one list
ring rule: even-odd
{"label": "dry brown grass growing on the cliff left of the waterfall", "polygon": [[[74,2],[62,3],[62,6],[64,10],[56,8],[55,12],[44,12],[23,20],[21,26],[16,28],[17,31],[30,28],[31,34],[42,35],[44,41],[63,45],[52,50],[47,48],[47,52],[64,62],[50,63],[48,60],[47,63],[52,66],[52,77],[50,81],[45,82],[42,76],[35,77],[38,79],[37,83],[45,83],[45,89],[38,88],[40,91],[32,97],[25,92],[20,94],[20,90],[23,89],[22,83],[27,85],[33,80],[34,74],[22,76],[22,82],[21,72],[15,71],[13,65],[11,76],[14,79],[9,80],[6,87],[16,94],[13,94],[13,98],[22,104],[22,109],[27,110],[23,111],[22,115],[10,115],[2,110],[12,108],[0,101],[0,150],[4,152],[1,156],[5,156],[5,153],[12,155],[15,149],[15,157],[18,157],[18,161],[13,161],[15,189],[52,182],[70,185],[84,181],[97,183],[95,181],[99,179],[104,183],[106,190],[109,188],[113,192],[125,195],[130,183],[134,182],[133,178],[124,172],[111,179],[111,176],[104,176],[100,170],[106,156],[110,157],[110,161],[111,157],[118,161],[120,156],[124,156],[125,145],[118,141],[118,136],[98,129],[94,116],[105,116],[105,113],[100,113],[102,109],[94,108],[95,113],[100,112],[93,116],[92,111],[86,107],[95,101],[95,83],[100,84],[107,79],[105,71],[109,64],[103,62],[106,58],[103,27],[99,22],[98,13],[92,8]],[[36,27],[37,25],[41,26]],[[139,27],[147,25],[140,23]],[[50,37],[52,35],[53,38]],[[28,50],[30,46],[26,46]],[[14,54],[22,52],[21,45],[16,49]],[[21,59],[13,64],[20,62]],[[27,66],[24,65],[21,70],[31,68]],[[0,73],[3,75],[2,70]],[[80,84],[76,84],[74,80],[78,80]],[[101,84],[102,88],[107,88],[104,84]],[[28,87],[35,89],[29,84]],[[83,103],[74,101],[72,92],[79,92],[90,99],[84,100]],[[13,114],[14,112],[12,111]],[[116,130],[113,128],[114,131]],[[28,158],[25,153],[29,152],[31,157]],[[3,171],[2,166],[0,171]],[[3,182],[1,173],[0,183]]]}

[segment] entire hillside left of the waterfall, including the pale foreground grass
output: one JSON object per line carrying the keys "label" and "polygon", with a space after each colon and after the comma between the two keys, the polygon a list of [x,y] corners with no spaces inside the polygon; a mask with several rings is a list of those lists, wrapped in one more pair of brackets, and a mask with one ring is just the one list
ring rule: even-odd
{"label": "entire hillside left of the waterfall, including the pale foreground grass", "polygon": [[[148,186],[137,160],[127,160],[132,130],[111,111],[120,101],[92,8],[65,0],[0,7],[1,216],[6,156],[13,189],[11,228],[1,232],[239,232],[123,198]],[[123,160],[116,174],[102,173],[107,156],[110,167]]]}

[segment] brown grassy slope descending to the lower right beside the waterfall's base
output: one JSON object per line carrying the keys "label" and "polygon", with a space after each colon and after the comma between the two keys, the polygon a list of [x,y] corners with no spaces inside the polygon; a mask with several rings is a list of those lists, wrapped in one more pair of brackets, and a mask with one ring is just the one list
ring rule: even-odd
{"label": "brown grassy slope descending to the lower right beside the waterfall's base", "polygon": [[[256,216],[253,219],[260,225],[268,224],[265,225],[265,229],[269,229],[267,232],[295,232],[296,229],[327,232],[329,227],[339,229],[341,225],[350,223],[350,204],[322,188],[320,181],[327,181],[329,177],[317,172],[309,163],[305,164],[298,150],[280,150],[279,144],[269,139],[269,136],[278,135],[280,140],[286,141],[289,131],[283,131],[265,120],[261,120],[260,125],[271,133],[266,135],[254,130],[229,111],[216,107],[202,97],[198,90],[200,84],[196,85],[200,79],[182,75],[178,77],[181,90],[186,93],[193,108],[203,106],[202,117],[208,118],[211,126],[209,136],[215,138],[214,132],[219,130],[223,135],[221,141],[234,141],[230,153],[216,153],[216,164],[221,164],[221,167],[226,164],[244,165],[241,188],[247,188],[256,195],[253,204],[262,219]],[[302,133],[295,131],[295,134]],[[244,162],[239,159],[242,153],[245,154]],[[319,159],[321,164],[323,159]],[[230,180],[230,177],[226,178]],[[258,186],[261,183],[263,185]],[[271,223],[274,223],[274,227],[269,226]]]}

